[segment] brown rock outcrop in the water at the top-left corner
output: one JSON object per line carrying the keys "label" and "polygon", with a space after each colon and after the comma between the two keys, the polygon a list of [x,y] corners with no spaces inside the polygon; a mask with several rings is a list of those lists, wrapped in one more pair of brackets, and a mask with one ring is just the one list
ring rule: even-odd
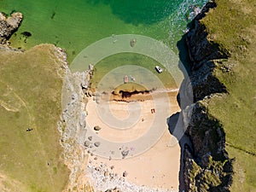
{"label": "brown rock outcrop in the water at the top-left corner", "polygon": [[5,44],[11,35],[19,28],[23,19],[19,12],[12,14],[6,18],[3,13],[0,13],[0,44]]}

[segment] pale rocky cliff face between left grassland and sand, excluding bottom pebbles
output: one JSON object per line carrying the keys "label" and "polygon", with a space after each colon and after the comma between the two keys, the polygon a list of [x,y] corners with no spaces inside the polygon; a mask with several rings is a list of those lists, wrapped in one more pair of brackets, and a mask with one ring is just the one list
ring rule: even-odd
{"label": "pale rocky cliff face between left grassland and sand, excluding bottom pebbles", "polygon": [[[61,53],[61,49],[56,50]],[[67,61],[67,56],[58,54],[61,62]],[[64,149],[64,161],[71,170],[67,189],[87,184],[85,170],[87,167],[87,153],[84,150],[84,140],[86,138],[86,112],[84,93],[80,84],[89,84],[86,79],[88,72],[71,73],[67,65],[64,68],[65,89],[62,92],[62,114],[58,129],[61,133],[61,146]],[[92,139],[92,138],[91,138]]]}

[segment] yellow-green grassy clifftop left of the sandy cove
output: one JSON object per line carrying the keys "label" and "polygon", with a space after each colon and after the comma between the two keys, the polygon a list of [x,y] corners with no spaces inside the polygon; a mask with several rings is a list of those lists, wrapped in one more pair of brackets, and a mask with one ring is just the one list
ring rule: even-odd
{"label": "yellow-green grassy clifftop left of the sandy cove", "polygon": [[23,191],[61,191],[69,175],[57,130],[62,80],[53,49],[0,52],[1,173]]}

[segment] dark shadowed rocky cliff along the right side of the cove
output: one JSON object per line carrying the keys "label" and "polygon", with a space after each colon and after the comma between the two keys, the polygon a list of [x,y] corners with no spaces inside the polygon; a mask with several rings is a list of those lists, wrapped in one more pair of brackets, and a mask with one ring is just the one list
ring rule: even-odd
{"label": "dark shadowed rocky cliff along the right side of the cove", "polygon": [[[184,183],[186,191],[230,191],[232,183],[232,160],[225,150],[225,133],[218,119],[208,113],[208,102],[213,96],[222,96],[227,90],[215,76],[219,65],[224,66],[222,59],[230,53],[207,37],[206,27],[201,19],[206,12],[214,8],[214,2],[207,3],[201,15],[192,22],[186,43],[191,61],[191,73],[184,79],[179,92],[178,101],[191,95],[188,84],[193,90],[193,102],[180,103],[185,134],[189,136],[193,148],[184,149]],[[188,120],[188,117],[190,118]]]}

